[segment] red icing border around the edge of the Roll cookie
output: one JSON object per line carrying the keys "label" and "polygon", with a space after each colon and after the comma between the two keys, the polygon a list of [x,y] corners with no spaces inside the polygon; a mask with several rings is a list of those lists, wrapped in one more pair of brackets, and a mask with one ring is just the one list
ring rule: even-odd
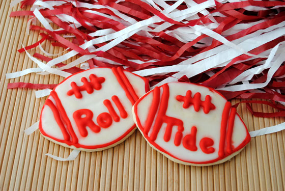
{"label": "red icing border around the edge of the Roll cookie", "polygon": [[[100,67],[100,68],[108,68],[108,67]],[[112,69],[112,68],[108,68],[108,69]],[[91,69],[88,69],[88,70],[94,70],[94,68],[91,68]],[[64,79],[59,85],[61,85],[62,83],[64,83],[68,78],[72,77],[73,75],[76,75],[76,74],[81,73],[81,72],[86,72],[86,71],[88,71],[88,70],[83,70],[83,71],[80,71],[80,72],[77,72],[77,73],[74,73],[74,74],[68,76],[68,77],[67,77],[66,79]],[[119,70],[120,70],[120,69],[119,69]],[[126,70],[122,70],[122,71],[126,71]],[[126,71],[126,72],[129,72],[129,71]],[[150,90],[150,88],[149,88],[149,80],[148,80],[147,78],[141,77],[141,76],[139,76],[139,75],[137,75],[137,74],[134,74],[134,73],[132,73],[132,72],[130,72],[130,73],[131,73],[132,75],[135,75],[135,76],[137,76],[137,77],[140,77],[141,79],[144,80],[144,82],[145,82],[145,92],[148,92],[148,91]],[[58,85],[58,86],[59,86],[59,85]],[[56,86],[56,87],[58,87],[58,86]],[[53,91],[55,91],[56,87],[53,89]],[[50,96],[51,96],[51,95],[50,95]],[[48,100],[48,99],[49,99],[49,97],[47,98],[47,100]],[[46,106],[46,103],[44,104],[44,106],[43,106],[43,108],[42,108],[42,111],[41,111],[41,115],[40,115],[40,122],[39,122],[39,130],[40,130],[40,132],[41,132],[45,137],[51,138],[52,140],[57,141],[57,142],[60,142],[60,143],[65,143],[65,144],[67,144],[67,145],[69,145],[69,146],[75,146],[76,148],[99,149],[99,148],[108,147],[108,146],[110,146],[110,145],[113,145],[113,144],[115,144],[115,143],[121,141],[123,138],[125,138],[125,137],[136,127],[136,125],[134,124],[134,125],[131,126],[123,135],[121,135],[118,139],[113,140],[113,141],[111,141],[111,142],[109,142],[109,143],[105,143],[105,144],[101,144],[101,145],[92,145],[92,146],[81,145],[81,144],[79,144],[79,143],[73,143],[73,142],[71,142],[71,141],[56,139],[56,138],[54,138],[54,137],[48,135],[47,133],[45,133],[45,131],[44,131],[43,128],[42,128],[42,112],[43,112],[45,106]],[[123,112],[123,113],[124,113],[124,112]],[[124,114],[123,114],[123,116],[124,116]]]}

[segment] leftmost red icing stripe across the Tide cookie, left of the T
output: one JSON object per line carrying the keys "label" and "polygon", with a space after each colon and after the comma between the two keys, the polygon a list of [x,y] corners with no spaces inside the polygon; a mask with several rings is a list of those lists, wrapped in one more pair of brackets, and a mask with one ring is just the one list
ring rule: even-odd
{"label": "leftmost red icing stripe across the Tide cookie, left of the T", "polygon": [[147,117],[146,125],[144,128],[144,132],[146,134],[149,133],[151,126],[153,124],[153,120],[154,120],[154,117],[155,117],[157,109],[158,109],[159,100],[160,100],[160,89],[158,87],[155,87],[154,91],[153,91],[153,99],[152,99],[149,115]]}

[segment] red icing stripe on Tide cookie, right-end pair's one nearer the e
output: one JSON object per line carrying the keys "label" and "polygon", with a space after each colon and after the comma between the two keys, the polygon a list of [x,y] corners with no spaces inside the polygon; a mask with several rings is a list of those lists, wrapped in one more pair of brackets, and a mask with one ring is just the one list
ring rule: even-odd
{"label": "red icing stripe on Tide cookie, right-end pair's one nearer the e", "polygon": [[231,102],[227,101],[223,108],[222,112],[222,120],[221,120],[221,135],[220,135],[220,144],[219,144],[219,156],[224,156],[224,142],[225,142],[225,133],[226,133],[226,126],[227,120],[229,119],[229,113],[231,109]]}

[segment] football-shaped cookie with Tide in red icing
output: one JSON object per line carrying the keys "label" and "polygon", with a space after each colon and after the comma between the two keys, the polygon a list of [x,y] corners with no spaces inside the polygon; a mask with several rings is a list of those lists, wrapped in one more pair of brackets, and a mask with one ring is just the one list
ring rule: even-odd
{"label": "football-shaped cookie with Tide in red icing", "polygon": [[154,149],[184,165],[224,162],[250,141],[236,108],[214,89],[200,85],[156,87],[137,100],[133,117]]}

